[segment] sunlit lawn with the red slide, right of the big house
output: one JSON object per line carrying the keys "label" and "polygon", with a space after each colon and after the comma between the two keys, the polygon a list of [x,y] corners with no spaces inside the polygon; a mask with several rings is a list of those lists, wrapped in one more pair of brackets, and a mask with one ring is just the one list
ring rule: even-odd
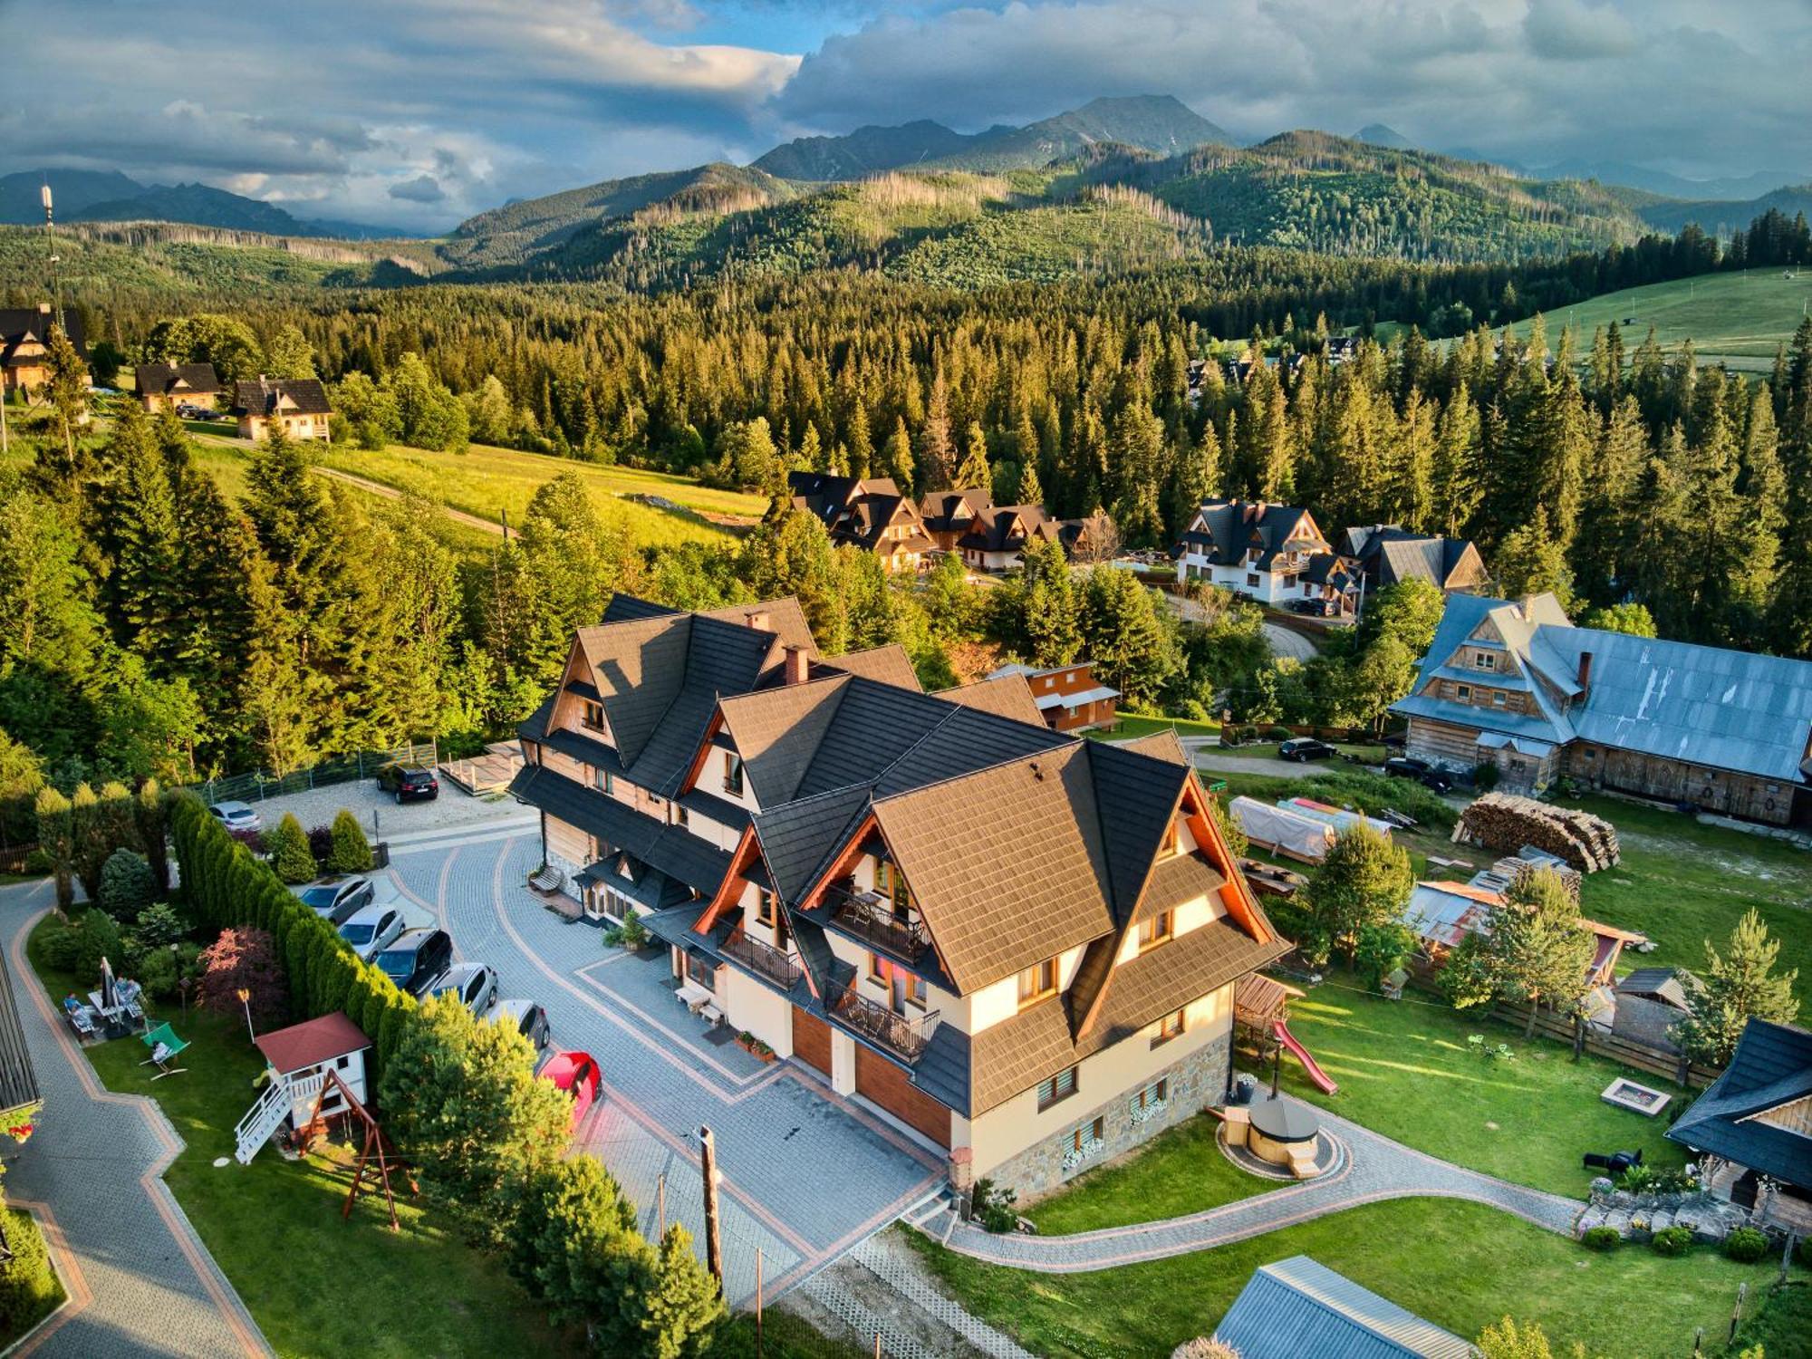
{"label": "sunlit lawn with the red slide, right of the big house", "polygon": [[[1598,1098],[1618,1075],[1667,1082],[1591,1055],[1573,1062],[1566,1044],[1524,1042],[1520,1029],[1460,1015],[1426,993],[1384,1000],[1357,989],[1350,973],[1332,971],[1290,1002],[1290,1033],[1339,1084],[1339,1093],[1323,1094],[1285,1055],[1283,1084],[1292,1094],[1502,1180],[1584,1198],[1593,1174],[1580,1165],[1587,1151],[1642,1147],[1649,1165],[1685,1161],[1662,1138],[1665,1118]],[[1513,1056],[1480,1056],[1466,1042],[1475,1033]]]}

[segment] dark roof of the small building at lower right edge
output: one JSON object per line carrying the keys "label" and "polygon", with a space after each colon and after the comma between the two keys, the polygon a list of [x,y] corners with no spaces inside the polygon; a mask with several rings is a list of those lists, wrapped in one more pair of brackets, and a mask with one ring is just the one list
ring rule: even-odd
{"label": "dark roof of the small building at lower right edge", "polygon": [[1667,1129],[1667,1138],[1812,1189],[1812,1138],[1759,1118],[1812,1094],[1812,1033],[1750,1017],[1730,1065]]}

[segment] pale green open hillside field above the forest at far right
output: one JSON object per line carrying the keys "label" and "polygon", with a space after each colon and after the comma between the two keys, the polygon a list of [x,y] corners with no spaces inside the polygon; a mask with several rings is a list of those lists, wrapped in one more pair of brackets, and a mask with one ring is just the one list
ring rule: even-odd
{"label": "pale green open hillside field above the forest at far right", "polygon": [[[1624,328],[1624,346],[1634,350],[1654,326],[1663,350],[1678,350],[1687,339],[1701,362],[1727,362],[1730,368],[1767,370],[1774,350],[1792,339],[1799,319],[1812,304],[1812,270],[1756,268],[1743,274],[1711,274],[1676,283],[1651,283],[1625,288],[1558,308],[1547,315],[1547,341],[1560,339],[1571,326],[1580,337],[1580,355],[1598,326],[1616,321]],[[1511,330],[1528,337],[1529,321]]]}

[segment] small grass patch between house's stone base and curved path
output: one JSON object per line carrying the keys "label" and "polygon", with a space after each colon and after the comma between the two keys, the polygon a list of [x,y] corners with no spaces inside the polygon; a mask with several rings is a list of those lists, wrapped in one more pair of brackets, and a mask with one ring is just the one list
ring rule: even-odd
{"label": "small grass patch between house's stone base and curved path", "polygon": [[1181,1218],[1277,1189],[1229,1161],[1214,1142],[1219,1122],[1198,1114],[1136,1154],[1069,1181],[1026,1210],[1044,1236]]}

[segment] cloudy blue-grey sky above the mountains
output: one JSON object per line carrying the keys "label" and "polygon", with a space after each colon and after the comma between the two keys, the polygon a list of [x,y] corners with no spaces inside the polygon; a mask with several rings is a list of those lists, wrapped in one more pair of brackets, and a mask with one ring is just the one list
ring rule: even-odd
{"label": "cloudy blue-grey sky above the mountains", "polygon": [[[0,170],[440,230],[805,132],[1176,94],[1524,165],[1812,176],[1808,0],[0,0]],[[29,60],[18,60],[29,54]]]}

